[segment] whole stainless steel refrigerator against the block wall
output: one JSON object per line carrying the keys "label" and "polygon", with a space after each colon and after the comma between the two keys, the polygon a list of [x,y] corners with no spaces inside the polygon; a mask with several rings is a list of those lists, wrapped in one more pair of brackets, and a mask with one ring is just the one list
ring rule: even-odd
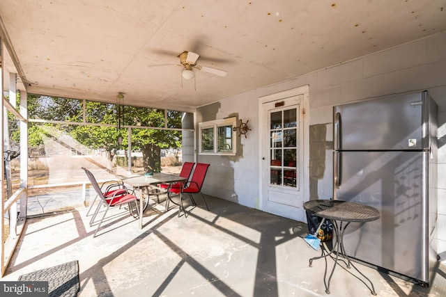
{"label": "whole stainless steel refrigerator against the block wall", "polygon": [[333,195],[376,207],[347,255],[429,284],[437,262],[437,105],[427,91],[333,107]]}

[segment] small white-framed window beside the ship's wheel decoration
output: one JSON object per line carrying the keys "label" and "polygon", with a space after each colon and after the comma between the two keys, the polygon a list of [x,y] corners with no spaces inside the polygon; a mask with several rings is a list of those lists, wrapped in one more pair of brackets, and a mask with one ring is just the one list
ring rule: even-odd
{"label": "small white-framed window beside the ship's wheel decoration", "polygon": [[234,117],[199,123],[199,153],[236,154],[236,121]]}

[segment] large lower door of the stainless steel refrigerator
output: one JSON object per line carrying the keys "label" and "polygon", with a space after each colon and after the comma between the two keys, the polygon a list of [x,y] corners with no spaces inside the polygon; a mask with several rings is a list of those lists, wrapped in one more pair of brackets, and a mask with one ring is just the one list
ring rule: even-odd
{"label": "large lower door of the stainless steel refrigerator", "polygon": [[[340,166],[334,199],[360,202],[380,211],[379,220],[348,225],[347,255],[427,282],[428,152],[334,152]],[[425,169],[423,169],[425,168]]]}

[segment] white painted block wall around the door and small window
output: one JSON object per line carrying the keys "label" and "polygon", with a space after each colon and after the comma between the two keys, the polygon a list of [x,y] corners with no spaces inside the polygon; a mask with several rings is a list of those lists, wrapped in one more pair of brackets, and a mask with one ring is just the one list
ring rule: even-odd
{"label": "white painted block wall around the door and small window", "polygon": [[247,138],[240,138],[238,156],[198,156],[198,161],[211,164],[203,193],[259,208],[259,97],[305,85],[309,85],[310,110],[307,116],[310,117],[310,126],[327,127],[325,172],[323,178],[318,179],[317,193],[314,193],[319,199],[332,196],[330,144],[333,105],[429,90],[438,104],[438,251],[443,259],[446,258],[446,33],[199,108],[198,122],[238,115],[244,122],[249,120],[249,127],[252,128]]}

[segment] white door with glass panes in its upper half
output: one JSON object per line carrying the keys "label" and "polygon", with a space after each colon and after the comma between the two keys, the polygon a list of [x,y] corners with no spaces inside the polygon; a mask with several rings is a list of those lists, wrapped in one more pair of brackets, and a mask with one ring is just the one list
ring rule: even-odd
{"label": "white door with glass panes in its upper half", "polygon": [[304,97],[265,102],[261,108],[263,211],[301,221],[305,221],[302,204],[307,191]]}

